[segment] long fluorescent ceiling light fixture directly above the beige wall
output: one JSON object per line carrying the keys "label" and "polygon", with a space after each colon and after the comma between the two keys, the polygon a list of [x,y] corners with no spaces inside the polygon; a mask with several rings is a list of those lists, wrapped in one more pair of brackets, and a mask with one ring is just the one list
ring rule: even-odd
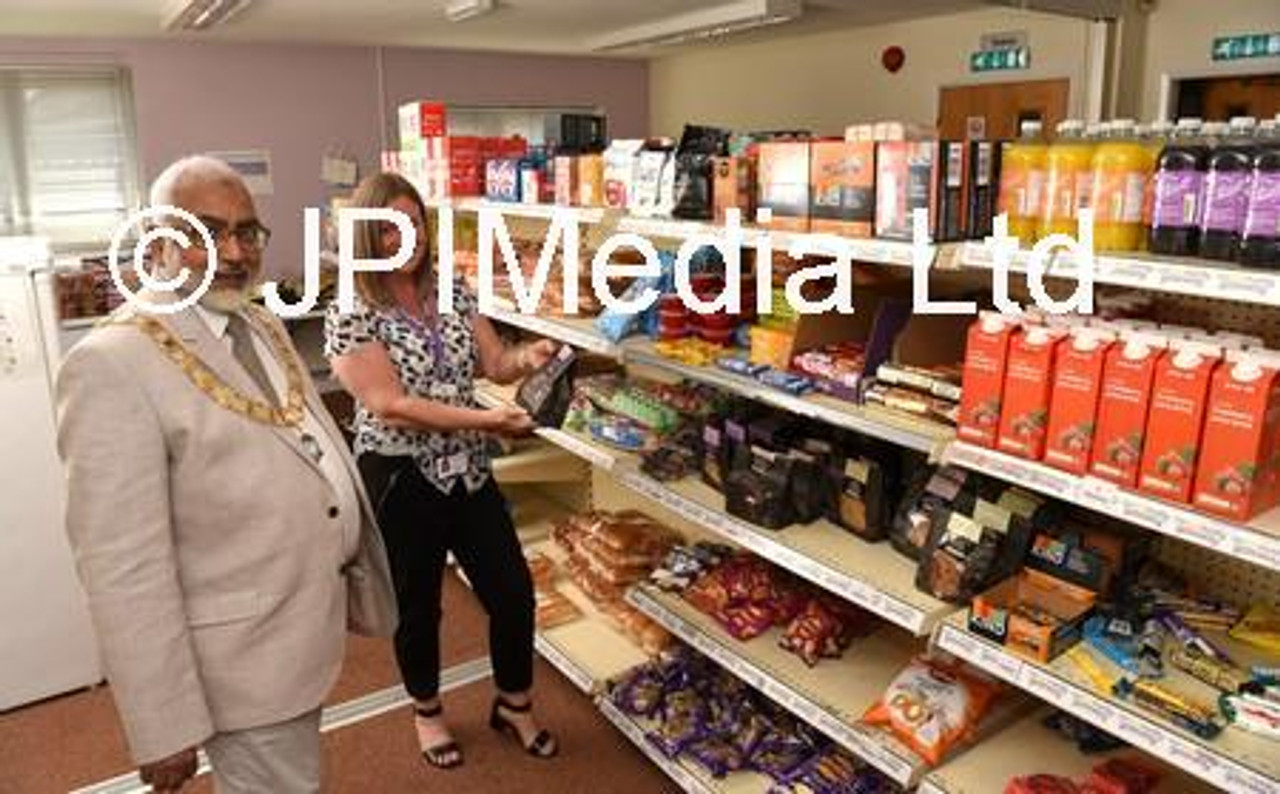
{"label": "long fluorescent ceiling light fixture directly above the beige wall", "polygon": [[600,53],[687,44],[791,22],[801,12],[801,0],[739,0],[623,28],[596,38],[590,47]]}

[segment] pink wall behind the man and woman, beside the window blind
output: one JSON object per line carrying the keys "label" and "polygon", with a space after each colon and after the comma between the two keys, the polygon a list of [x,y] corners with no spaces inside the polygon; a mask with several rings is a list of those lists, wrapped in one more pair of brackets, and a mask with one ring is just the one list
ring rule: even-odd
{"label": "pink wall behind the man and woman, beside the window blind", "polygon": [[302,210],[323,205],[320,159],[343,150],[376,168],[379,124],[396,145],[396,108],[457,104],[596,105],[614,136],[648,131],[643,61],[378,47],[0,37],[0,64],[116,64],[131,69],[142,177],[210,150],[270,151],[274,193],[259,213],[274,231],[271,274],[302,268]]}

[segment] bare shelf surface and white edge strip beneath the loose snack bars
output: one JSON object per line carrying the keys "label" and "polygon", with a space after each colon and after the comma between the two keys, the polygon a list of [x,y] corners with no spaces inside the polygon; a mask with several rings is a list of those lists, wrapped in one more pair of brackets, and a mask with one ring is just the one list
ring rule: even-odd
{"label": "bare shelf surface and white edge strip beneath the loose snack bars", "polygon": [[[1110,694],[1097,693],[1065,657],[1047,665],[1025,660],[970,634],[964,625],[963,613],[945,622],[938,629],[938,647],[1199,780],[1233,793],[1280,791],[1280,753],[1274,741],[1234,727],[1228,727],[1216,739],[1201,739],[1169,722],[1156,721]],[[1176,670],[1167,671],[1162,683],[1203,701],[1216,699],[1216,690]]]}

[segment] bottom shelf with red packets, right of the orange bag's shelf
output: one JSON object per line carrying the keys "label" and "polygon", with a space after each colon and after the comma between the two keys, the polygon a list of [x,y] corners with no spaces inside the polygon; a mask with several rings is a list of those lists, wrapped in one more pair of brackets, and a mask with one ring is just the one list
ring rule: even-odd
{"label": "bottom shelf with red packets, right of the orange bag's shelf", "polygon": [[[1139,752],[1143,748],[1085,754],[1061,733],[1044,725],[1046,720],[1055,718],[1051,715],[1055,715],[1053,709],[1039,711],[983,739],[954,761],[929,772],[920,781],[916,794],[1075,791],[1076,789],[1066,786],[1066,781],[1076,786],[1089,781],[1098,786],[1091,790],[1102,791],[1211,794],[1216,790]],[[1062,784],[1060,788],[1048,788],[1048,780],[1042,776],[1055,776]],[[1014,788],[1015,780],[1020,788]],[[1005,781],[1009,781],[1010,788],[1002,788]],[[1153,788],[1148,788],[1152,781]],[[1119,788],[1125,782],[1133,788]]]}

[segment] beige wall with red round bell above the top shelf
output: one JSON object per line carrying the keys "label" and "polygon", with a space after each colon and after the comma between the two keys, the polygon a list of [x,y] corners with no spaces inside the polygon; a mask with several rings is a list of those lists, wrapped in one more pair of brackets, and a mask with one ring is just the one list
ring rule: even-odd
{"label": "beige wall with red round bell above the top shelf", "polygon": [[[1029,33],[1032,68],[970,74],[979,36],[1004,31]],[[1079,19],[996,9],[692,50],[650,64],[650,129],[678,136],[690,122],[838,134],[852,122],[933,124],[941,86],[1052,77],[1070,78],[1070,111],[1080,114],[1088,32]],[[906,65],[890,74],[881,51],[895,44]]]}

